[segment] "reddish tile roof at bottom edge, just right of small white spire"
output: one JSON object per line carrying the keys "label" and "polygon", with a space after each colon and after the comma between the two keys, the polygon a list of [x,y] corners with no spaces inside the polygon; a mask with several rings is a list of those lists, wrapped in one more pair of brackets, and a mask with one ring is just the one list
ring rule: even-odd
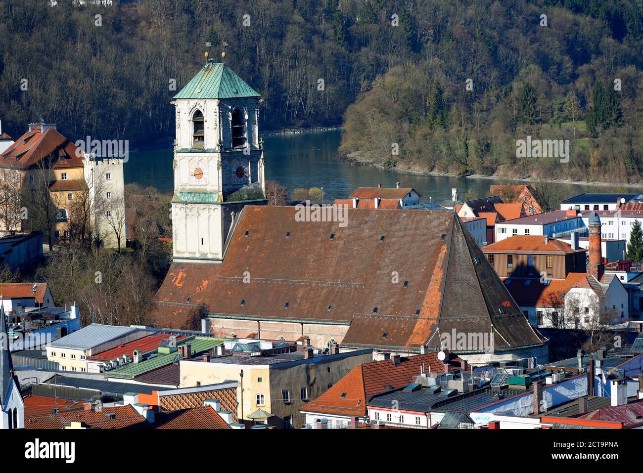
{"label": "reddish tile roof at bottom edge, just right of small white spire", "polygon": [[[107,414],[116,415],[107,418]],[[132,406],[104,407],[100,411],[69,411],[33,416],[24,420],[25,429],[64,429],[72,422],[82,422],[90,429],[147,428],[147,421]]]}

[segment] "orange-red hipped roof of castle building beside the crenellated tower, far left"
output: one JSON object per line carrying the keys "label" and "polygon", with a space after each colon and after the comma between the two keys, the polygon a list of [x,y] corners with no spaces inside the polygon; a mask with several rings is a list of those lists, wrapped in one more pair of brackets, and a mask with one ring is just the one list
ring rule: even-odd
{"label": "orange-red hipped roof of castle building beside the crenellated tower, far left", "polygon": [[[78,147],[53,128],[41,133],[41,127],[25,132],[15,140],[0,156],[0,167],[28,169],[39,163],[44,157],[53,154],[54,168],[77,168],[82,164],[82,152]],[[64,158],[64,159],[62,159]]]}

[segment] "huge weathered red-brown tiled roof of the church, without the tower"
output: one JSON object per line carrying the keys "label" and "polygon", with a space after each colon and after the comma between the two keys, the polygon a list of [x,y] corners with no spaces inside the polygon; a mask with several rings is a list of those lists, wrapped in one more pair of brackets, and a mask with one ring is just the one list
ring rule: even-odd
{"label": "huge weathered red-brown tiled roof of the church, without the tower", "polygon": [[404,334],[395,346],[410,351],[437,339],[438,324],[440,332],[498,332],[506,343],[498,350],[545,341],[453,212],[349,208],[347,226],[298,222],[295,212],[246,206],[221,264],[172,263],[152,304],[156,326],[197,327],[206,313],[343,324],[368,314],[359,317],[368,339],[349,328],[343,345],[390,346],[381,323]]}

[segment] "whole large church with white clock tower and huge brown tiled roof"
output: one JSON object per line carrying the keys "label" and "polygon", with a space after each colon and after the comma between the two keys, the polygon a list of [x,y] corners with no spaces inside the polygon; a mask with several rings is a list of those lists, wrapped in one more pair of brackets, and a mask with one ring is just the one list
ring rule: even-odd
{"label": "whole large church with white clock tower and huge brown tiled roof", "polygon": [[[212,59],[174,96],[174,259],[150,306],[154,325],[547,362],[548,339],[455,213],[347,208],[346,221],[302,221],[294,206],[267,206],[259,102]],[[445,346],[452,335],[493,346]]]}

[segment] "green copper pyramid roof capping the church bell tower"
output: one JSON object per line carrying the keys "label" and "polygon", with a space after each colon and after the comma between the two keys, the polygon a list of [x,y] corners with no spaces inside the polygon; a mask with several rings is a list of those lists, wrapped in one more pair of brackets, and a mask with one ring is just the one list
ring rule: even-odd
{"label": "green copper pyramid roof capping the church bell tower", "polygon": [[208,59],[174,98],[243,98],[260,97],[246,82],[222,62]]}

